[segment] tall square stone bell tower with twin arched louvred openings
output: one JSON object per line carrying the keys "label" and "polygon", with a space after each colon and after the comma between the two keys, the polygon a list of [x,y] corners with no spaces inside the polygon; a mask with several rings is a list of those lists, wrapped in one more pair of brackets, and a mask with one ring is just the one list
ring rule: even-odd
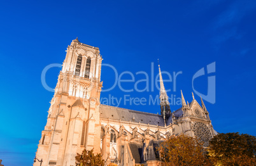
{"label": "tall square stone bell tower with twin arched louvred openings", "polygon": [[36,152],[36,158],[43,159],[42,166],[75,166],[76,153],[82,153],[84,148],[101,153],[99,98],[103,59],[99,48],[77,38],[66,52]]}

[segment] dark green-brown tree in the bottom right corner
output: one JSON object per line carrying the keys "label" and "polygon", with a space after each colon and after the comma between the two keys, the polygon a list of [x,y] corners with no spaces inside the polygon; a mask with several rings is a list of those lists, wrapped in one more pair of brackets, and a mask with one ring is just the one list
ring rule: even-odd
{"label": "dark green-brown tree in the bottom right corner", "polygon": [[214,165],[256,165],[256,137],[249,134],[218,134],[210,140],[208,151]]}

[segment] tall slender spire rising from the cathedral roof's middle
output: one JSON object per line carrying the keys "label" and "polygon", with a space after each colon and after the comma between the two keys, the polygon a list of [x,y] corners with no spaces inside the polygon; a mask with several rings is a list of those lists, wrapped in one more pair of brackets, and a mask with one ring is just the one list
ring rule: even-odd
{"label": "tall slender spire rising from the cathedral roof's middle", "polygon": [[171,115],[171,109],[168,101],[168,96],[166,93],[166,89],[164,88],[164,82],[162,80],[162,73],[160,70],[160,65],[159,67],[159,79],[160,79],[160,108],[161,108],[161,115],[164,117],[164,120],[166,120],[170,117]]}

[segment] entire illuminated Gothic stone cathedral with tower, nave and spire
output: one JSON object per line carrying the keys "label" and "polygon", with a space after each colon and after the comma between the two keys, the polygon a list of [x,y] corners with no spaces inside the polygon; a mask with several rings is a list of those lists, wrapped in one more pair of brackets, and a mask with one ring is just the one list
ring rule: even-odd
{"label": "entire illuminated Gothic stone cathedral with tower, nave and spire", "polygon": [[208,146],[217,134],[202,98],[199,105],[192,94],[188,103],[181,91],[182,106],[171,111],[160,66],[159,115],[101,105],[99,48],[76,38],[66,52],[36,152],[42,166],[75,166],[76,153],[84,149],[101,153],[106,164],[160,165],[157,146],[170,136],[186,134]]}

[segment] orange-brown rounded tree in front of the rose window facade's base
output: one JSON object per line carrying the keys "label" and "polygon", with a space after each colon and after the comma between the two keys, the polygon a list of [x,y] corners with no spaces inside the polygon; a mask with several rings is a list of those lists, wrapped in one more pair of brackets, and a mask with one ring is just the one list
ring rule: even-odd
{"label": "orange-brown rounded tree in front of the rose window facade's base", "polygon": [[193,137],[171,137],[160,144],[159,151],[165,165],[210,165],[203,143]]}

